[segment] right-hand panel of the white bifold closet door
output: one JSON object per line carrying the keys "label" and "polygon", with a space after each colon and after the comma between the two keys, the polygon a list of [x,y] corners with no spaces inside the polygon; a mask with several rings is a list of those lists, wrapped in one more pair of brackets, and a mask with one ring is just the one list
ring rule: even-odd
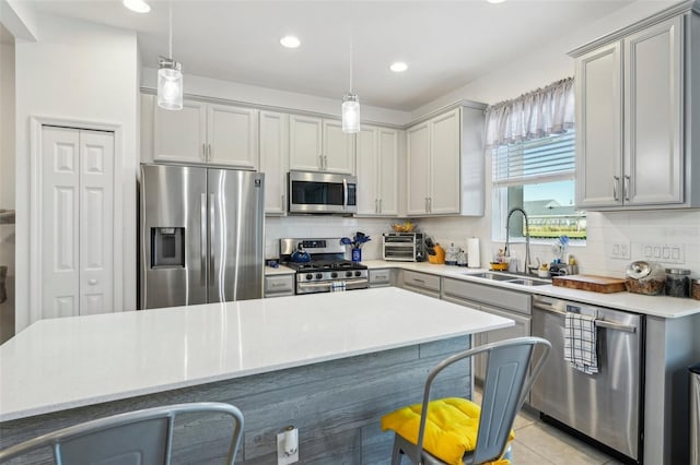
{"label": "right-hand panel of the white bifold closet door", "polygon": [[80,131],[80,314],[114,311],[114,134]]}

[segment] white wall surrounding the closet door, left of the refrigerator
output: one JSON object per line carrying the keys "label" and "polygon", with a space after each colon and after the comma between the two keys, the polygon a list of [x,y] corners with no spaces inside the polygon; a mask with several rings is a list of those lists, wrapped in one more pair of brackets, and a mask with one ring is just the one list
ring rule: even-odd
{"label": "white wall surrounding the closet door, left of the refrigerator", "polygon": [[[136,308],[136,172],[138,49],[136,34],[56,16],[37,16],[37,41],[21,41],[16,58],[18,330],[28,321],[30,117],[121,128],[124,308]],[[119,309],[115,309],[119,310]]]}

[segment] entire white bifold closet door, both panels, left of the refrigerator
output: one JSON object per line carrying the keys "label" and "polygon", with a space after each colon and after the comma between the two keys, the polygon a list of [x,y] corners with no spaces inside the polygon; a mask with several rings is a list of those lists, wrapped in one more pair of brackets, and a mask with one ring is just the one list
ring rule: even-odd
{"label": "entire white bifold closet door, both panels, left of the refrigerator", "polygon": [[114,134],[43,127],[42,318],[114,311]]}

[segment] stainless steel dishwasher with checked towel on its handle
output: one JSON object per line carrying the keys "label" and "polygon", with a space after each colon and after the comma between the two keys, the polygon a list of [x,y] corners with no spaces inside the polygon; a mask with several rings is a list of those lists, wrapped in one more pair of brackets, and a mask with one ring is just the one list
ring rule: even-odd
{"label": "stainless steel dishwasher with checked towel on its handle", "polygon": [[[596,317],[598,373],[564,360],[564,315]],[[551,356],[530,392],[545,420],[569,427],[642,463],[644,317],[608,308],[533,297],[533,336],[548,339]]]}

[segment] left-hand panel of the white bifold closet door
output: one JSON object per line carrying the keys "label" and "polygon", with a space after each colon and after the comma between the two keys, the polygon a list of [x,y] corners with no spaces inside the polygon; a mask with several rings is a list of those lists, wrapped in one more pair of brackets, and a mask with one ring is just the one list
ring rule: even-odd
{"label": "left-hand panel of the white bifold closet door", "polygon": [[42,133],[42,318],[80,314],[80,133]]}

